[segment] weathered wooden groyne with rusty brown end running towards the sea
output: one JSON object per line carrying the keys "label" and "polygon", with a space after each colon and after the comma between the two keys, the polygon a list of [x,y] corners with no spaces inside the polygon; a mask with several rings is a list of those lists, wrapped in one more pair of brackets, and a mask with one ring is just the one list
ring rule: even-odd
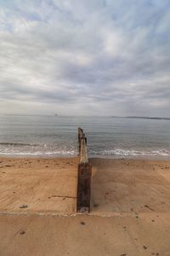
{"label": "weathered wooden groyne with rusty brown end running towards the sea", "polygon": [[81,128],[78,128],[78,146],[77,212],[90,212],[92,166],[88,163],[87,137]]}

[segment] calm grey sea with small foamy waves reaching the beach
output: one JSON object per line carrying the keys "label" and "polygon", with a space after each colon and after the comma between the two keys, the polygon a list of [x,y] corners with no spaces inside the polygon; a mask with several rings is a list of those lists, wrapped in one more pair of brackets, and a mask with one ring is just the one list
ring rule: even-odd
{"label": "calm grey sea with small foamy waves reaching the beach", "polygon": [[0,115],[0,154],[76,155],[78,126],[90,156],[170,156],[170,120],[15,115]]}

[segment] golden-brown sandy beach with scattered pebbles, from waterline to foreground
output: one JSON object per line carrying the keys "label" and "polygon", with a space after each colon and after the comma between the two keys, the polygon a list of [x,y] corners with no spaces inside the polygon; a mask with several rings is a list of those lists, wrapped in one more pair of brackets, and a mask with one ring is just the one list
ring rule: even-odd
{"label": "golden-brown sandy beach with scattered pebbles, from waterline to foreground", "polygon": [[0,159],[0,256],[170,255],[170,161],[90,161],[82,215],[77,158]]}

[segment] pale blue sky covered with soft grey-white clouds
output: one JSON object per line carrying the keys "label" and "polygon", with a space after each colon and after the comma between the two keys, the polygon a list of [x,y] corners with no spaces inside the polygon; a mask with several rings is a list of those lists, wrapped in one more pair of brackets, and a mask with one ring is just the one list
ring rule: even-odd
{"label": "pale blue sky covered with soft grey-white clouds", "polygon": [[0,0],[0,113],[170,117],[170,1]]}

